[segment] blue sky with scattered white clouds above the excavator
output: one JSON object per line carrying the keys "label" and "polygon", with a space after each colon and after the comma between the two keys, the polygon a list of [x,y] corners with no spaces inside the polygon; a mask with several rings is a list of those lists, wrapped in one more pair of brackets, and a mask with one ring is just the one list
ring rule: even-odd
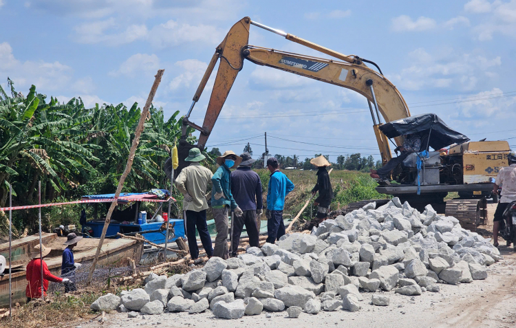
{"label": "blue sky with scattered white clouds above the excavator", "polygon": [[[516,148],[516,0],[0,0],[0,83],[142,106],[163,68],[155,105],[185,114],[216,45],[245,16],[374,61],[413,115],[437,113],[471,140],[514,138]],[[255,26],[250,44],[327,58]],[[363,96],[246,61],[207,145],[241,153],[250,142],[256,157],[265,131],[272,154],[379,158]]]}

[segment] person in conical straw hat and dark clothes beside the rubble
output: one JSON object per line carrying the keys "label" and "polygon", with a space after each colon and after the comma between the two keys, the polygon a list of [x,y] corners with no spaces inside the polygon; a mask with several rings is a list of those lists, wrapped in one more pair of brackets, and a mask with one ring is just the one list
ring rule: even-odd
{"label": "person in conical straw hat and dark clothes beside the rubble", "polygon": [[317,168],[317,182],[312,189],[312,195],[315,196],[316,193],[319,192],[319,197],[314,200],[314,206],[317,206],[317,214],[315,215],[315,219],[310,222],[310,228],[308,228],[308,230],[312,230],[314,226],[319,226],[319,223],[327,218],[330,203],[334,197],[330,175],[326,171],[326,167],[332,164],[330,164],[323,155],[312,158],[310,163]]}

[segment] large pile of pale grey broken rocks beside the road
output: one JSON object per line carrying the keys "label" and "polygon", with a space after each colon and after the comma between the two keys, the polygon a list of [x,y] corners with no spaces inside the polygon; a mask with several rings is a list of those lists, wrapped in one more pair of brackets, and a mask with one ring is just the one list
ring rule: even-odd
{"label": "large pile of pale grey broken rocks beside the road", "polygon": [[288,234],[227,261],[213,257],[202,270],[153,274],[143,289],[101,296],[92,309],[129,317],[209,309],[229,319],[264,310],[286,309],[291,318],[301,311],[358,311],[365,298],[389,305],[389,294],[367,293],[439,292],[440,283],[485,279],[486,265],[500,259],[489,239],[461,228],[458,219],[431,206],[420,213],[394,198],[324,221],[311,234]]}

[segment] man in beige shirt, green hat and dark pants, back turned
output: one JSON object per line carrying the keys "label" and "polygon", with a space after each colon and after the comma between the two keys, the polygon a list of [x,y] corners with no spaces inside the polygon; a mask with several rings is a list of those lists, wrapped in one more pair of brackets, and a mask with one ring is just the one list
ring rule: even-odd
{"label": "man in beige shirt, green hat and dark pants, back turned", "polygon": [[199,232],[202,247],[206,251],[206,255],[213,255],[213,247],[211,245],[211,237],[208,232],[208,224],[206,223],[206,210],[208,209],[208,201],[206,201],[206,193],[208,186],[211,185],[211,177],[213,174],[208,168],[205,168],[200,161],[206,157],[202,155],[198,148],[190,149],[185,162],[191,162],[189,166],[182,169],[181,173],[175,179],[175,186],[183,194],[183,209],[186,213],[186,239],[188,239],[188,247],[190,256],[193,260],[199,257],[199,248],[197,247],[197,238],[195,237],[195,228]]}

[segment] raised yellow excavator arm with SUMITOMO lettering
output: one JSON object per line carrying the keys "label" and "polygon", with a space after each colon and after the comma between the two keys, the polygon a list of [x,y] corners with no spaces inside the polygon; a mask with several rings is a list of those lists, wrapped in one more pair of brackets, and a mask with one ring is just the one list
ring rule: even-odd
{"label": "raised yellow excavator arm with SUMITOMO lettering", "polygon": [[[289,41],[305,45],[306,47],[338,58],[339,61],[248,45],[249,28],[251,24],[285,36]],[[194,122],[191,122],[189,117],[218,59],[220,59],[219,69],[211,92],[211,98],[208,102],[208,108],[206,109],[206,116],[204,117],[202,127],[200,127]],[[177,170],[178,173],[186,166],[183,159],[188,155],[189,149],[193,147],[193,145],[186,142],[188,127],[193,127],[201,132],[197,147],[204,149],[206,141],[228,97],[229,91],[235,82],[235,78],[237,78],[238,72],[244,67],[244,59],[257,65],[273,67],[307,78],[313,78],[314,80],[345,87],[365,96],[371,111],[374,123],[373,129],[378,142],[378,148],[380,149],[382,162],[386,163],[391,159],[391,151],[387,137],[378,129],[382,124],[380,113],[385,122],[390,122],[400,118],[407,118],[410,116],[410,112],[407,103],[398,89],[381,74],[380,68],[375,63],[354,55],[346,56],[292,34],[287,34],[286,32],[268,28],[265,25],[253,22],[249,17],[244,17],[244,19],[241,19],[233,25],[224,41],[217,47],[208,65],[208,69],[206,69],[201,83],[193,96],[192,105],[183,118],[182,140],[180,141],[179,149],[180,167]],[[379,73],[367,67],[365,63],[371,63],[378,67]],[[376,122],[377,119],[378,122]],[[400,144],[401,141],[402,140],[398,138],[396,143]]]}

